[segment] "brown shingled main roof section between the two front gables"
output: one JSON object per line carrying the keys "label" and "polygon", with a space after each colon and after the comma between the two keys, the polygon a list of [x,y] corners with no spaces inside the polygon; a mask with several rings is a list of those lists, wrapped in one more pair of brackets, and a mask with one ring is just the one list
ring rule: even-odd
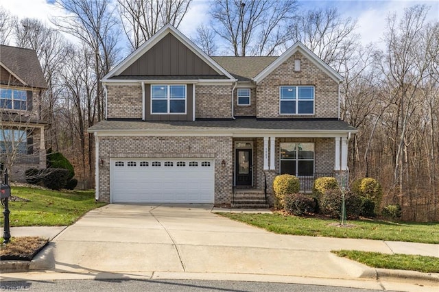
{"label": "brown shingled main roof section between the two front gables", "polygon": [[239,81],[250,81],[278,57],[212,57]]}

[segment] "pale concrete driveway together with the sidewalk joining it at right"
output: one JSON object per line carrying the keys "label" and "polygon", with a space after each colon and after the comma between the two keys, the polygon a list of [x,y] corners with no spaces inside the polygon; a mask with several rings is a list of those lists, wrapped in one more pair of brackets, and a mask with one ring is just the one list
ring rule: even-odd
{"label": "pale concrete driveway together with the sidewalk joining it at right", "polygon": [[[372,282],[378,276],[439,281],[438,274],[372,269],[331,254],[347,249],[439,257],[438,245],[273,234],[211,210],[210,204],[107,205],[65,228],[29,267],[84,276],[229,275],[235,280],[253,275]],[[1,278],[16,276],[3,273]]]}

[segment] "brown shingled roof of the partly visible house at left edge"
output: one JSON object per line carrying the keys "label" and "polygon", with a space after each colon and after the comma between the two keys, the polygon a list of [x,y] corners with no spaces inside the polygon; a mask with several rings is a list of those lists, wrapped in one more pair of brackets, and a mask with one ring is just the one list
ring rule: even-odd
{"label": "brown shingled roof of the partly visible house at left edge", "polygon": [[47,88],[40,62],[33,49],[0,45],[0,65],[14,77],[18,77],[25,86]]}

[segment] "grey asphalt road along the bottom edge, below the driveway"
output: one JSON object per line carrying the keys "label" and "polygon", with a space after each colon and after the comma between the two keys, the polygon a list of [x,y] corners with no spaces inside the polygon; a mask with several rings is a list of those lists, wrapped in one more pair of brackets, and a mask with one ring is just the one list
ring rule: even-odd
{"label": "grey asphalt road along the bottom edge, below the driveway", "polygon": [[304,284],[285,284],[270,282],[238,282],[211,280],[56,280],[1,282],[0,291],[255,291],[255,292],[360,292],[381,291],[344,287],[316,286]]}

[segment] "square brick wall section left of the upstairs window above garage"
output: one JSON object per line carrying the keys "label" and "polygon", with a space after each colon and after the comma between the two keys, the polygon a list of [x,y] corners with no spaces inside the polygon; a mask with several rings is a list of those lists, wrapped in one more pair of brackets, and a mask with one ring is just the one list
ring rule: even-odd
{"label": "square brick wall section left of the upstairs window above garage", "polygon": [[140,84],[112,85],[107,88],[108,118],[142,118],[142,87]]}

